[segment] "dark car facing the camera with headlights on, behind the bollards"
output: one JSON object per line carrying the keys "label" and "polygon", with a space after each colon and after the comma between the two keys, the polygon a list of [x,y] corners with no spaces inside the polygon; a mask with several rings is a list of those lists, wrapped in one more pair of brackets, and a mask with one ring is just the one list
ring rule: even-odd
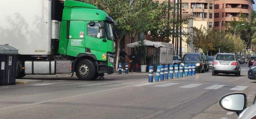
{"label": "dark car facing the camera with headlights on, behind the bollards", "polygon": [[204,73],[206,70],[204,68],[205,62],[203,56],[200,53],[186,53],[182,58],[182,63],[184,64],[196,64],[196,71],[199,73]]}

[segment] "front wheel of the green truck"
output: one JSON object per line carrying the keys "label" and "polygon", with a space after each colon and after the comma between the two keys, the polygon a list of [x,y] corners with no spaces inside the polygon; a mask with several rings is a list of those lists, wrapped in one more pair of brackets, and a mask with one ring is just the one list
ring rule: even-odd
{"label": "front wheel of the green truck", "polygon": [[77,78],[81,80],[93,80],[96,74],[95,66],[90,60],[80,60],[75,69]]}

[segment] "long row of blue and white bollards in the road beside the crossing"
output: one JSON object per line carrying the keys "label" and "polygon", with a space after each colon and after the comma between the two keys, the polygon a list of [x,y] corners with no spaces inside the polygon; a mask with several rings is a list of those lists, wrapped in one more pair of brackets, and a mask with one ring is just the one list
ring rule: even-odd
{"label": "long row of blue and white bollards in the road beside the crossing", "polygon": [[[156,70],[156,76],[155,76],[155,81],[158,82],[159,79],[160,81],[167,80],[167,79],[173,79],[179,78],[179,77],[188,77],[191,75],[196,75],[196,65],[195,64],[185,64],[183,67],[182,65],[174,65],[174,72],[173,72],[173,65],[160,65],[157,66]],[[148,69],[148,82],[153,82],[153,66],[149,66]],[[169,69],[169,70],[168,70]]]}

